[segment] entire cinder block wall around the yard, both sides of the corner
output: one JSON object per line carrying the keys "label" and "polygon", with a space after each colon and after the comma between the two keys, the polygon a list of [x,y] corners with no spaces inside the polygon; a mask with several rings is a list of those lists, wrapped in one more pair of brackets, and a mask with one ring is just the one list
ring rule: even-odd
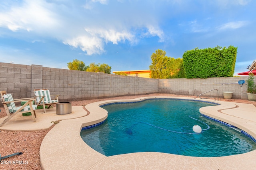
{"label": "entire cinder block wall around the yard, both sides of the corner", "polygon": [[[41,65],[28,66],[0,63],[1,91],[6,90],[14,98],[30,98],[34,96],[34,89],[46,88],[52,94],[60,94],[60,101],[110,98],[146,93],[199,96],[212,89],[218,89],[220,98],[223,97],[222,92],[231,91],[234,99],[247,100],[246,84],[242,87],[239,84],[218,84],[247,79],[247,76],[206,79],[152,79],[104,74],[102,72],[49,68]],[[217,92],[214,90],[203,96],[217,96]]]}

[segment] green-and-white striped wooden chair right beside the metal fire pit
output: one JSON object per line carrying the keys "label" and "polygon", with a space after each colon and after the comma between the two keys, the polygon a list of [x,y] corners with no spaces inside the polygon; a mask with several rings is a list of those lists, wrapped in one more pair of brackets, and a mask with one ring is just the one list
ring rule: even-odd
{"label": "green-and-white striped wooden chair right beside the metal fire pit", "polygon": [[[59,102],[58,96],[60,95],[51,95],[50,90],[47,89],[34,89],[34,94],[36,97],[37,106],[43,106],[44,113],[46,113],[45,105],[49,105],[49,109],[52,106],[52,104],[57,104]],[[51,99],[51,96],[55,96],[54,100]]]}

